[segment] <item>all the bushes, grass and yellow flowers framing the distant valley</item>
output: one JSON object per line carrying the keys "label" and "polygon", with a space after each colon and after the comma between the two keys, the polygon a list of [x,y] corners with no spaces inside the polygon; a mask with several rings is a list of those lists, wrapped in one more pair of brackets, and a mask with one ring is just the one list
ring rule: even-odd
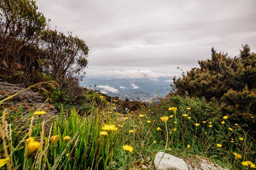
{"label": "all the bushes, grass and yellow flowers framing the distant valley", "polygon": [[[212,48],[200,68],[174,79],[168,97],[145,104],[81,88],[88,46],[46,29],[34,1],[0,0],[0,22],[0,80],[25,82],[59,108],[51,118],[40,108],[25,115],[23,103],[5,105],[24,90],[0,91],[0,169],[154,169],[159,151],[255,168],[256,56],[249,45],[235,58]],[[119,105],[131,112],[117,112]]]}

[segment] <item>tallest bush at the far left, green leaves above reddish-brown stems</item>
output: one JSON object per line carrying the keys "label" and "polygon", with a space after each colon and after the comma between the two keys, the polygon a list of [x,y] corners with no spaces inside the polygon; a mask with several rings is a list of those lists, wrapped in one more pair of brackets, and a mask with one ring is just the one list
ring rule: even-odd
{"label": "tallest bush at the far left, green leaves above reddish-brown stems", "polygon": [[0,1],[0,79],[26,85],[40,81],[43,54],[37,41],[45,26],[34,1]]}

